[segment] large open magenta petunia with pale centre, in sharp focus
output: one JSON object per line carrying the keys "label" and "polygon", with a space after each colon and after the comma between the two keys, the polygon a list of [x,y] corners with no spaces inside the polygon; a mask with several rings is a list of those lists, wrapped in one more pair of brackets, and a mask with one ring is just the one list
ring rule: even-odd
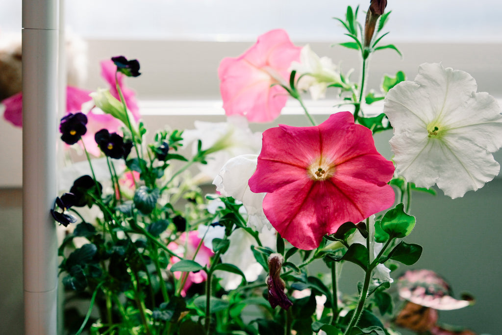
{"label": "large open magenta petunia with pale centre, in sharp focus", "polygon": [[267,192],[263,210],[293,246],[311,250],[344,222],[389,208],[394,165],[376,151],[371,131],[340,112],[315,127],[280,125],[263,133],[253,192]]}

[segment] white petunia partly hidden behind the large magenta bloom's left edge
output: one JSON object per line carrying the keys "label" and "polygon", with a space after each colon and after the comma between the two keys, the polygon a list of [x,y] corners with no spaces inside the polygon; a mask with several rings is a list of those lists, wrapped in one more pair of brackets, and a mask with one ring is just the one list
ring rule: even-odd
{"label": "white petunia partly hidden behind the large magenta bloom's left edge", "polygon": [[254,193],[247,181],[255,173],[258,155],[240,155],[228,160],[214,178],[216,190],[242,202],[247,212],[247,225],[258,232],[272,225],[263,212],[263,198],[267,193]]}

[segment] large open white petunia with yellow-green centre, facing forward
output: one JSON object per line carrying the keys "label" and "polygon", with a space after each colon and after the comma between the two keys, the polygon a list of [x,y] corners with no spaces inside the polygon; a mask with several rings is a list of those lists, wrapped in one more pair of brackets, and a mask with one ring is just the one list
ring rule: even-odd
{"label": "large open white petunia with yellow-green centre, facing forward", "polygon": [[422,64],[415,81],[403,81],[385,99],[394,128],[390,143],[397,172],[419,187],[437,184],[456,198],[492,180],[502,146],[496,100],[466,72]]}

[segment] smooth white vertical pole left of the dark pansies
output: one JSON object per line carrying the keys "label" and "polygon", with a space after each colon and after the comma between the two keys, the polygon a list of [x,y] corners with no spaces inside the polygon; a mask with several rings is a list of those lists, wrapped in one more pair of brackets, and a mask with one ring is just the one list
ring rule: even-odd
{"label": "smooth white vertical pole left of the dark pansies", "polygon": [[25,334],[57,333],[56,196],[59,4],[23,0]]}

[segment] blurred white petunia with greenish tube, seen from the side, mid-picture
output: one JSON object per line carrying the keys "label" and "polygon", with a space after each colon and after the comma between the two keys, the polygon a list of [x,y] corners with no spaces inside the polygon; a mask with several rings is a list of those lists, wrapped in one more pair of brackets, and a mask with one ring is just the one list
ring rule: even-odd
{"label": "blurred white petunia with greenish tube, seen from the side, mid-picture", "polygon": [[199,168],[208,178],[213,179],[221,167],[230,158],[243,154],[258,154],[262,149],[262,134],[253,133],[245,117],[229,116],[227,122],[195,121],[195,130],[185,130],[185,145],[194,142],[194,154],[197,141],[202,141],[202,150],[209,150],[207,164]]}

